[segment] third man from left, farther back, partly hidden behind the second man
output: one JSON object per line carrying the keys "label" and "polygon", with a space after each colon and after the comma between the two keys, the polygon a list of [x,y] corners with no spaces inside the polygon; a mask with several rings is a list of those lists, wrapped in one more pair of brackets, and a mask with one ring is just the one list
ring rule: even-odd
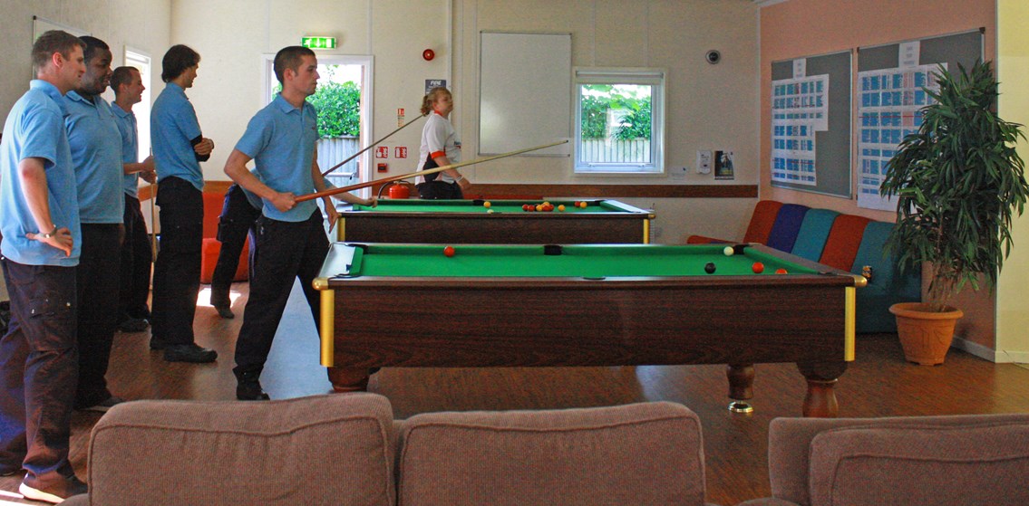
{"label": "third man from left, farther back, partly hidden behind the second man", "polygon": [[134,67],[118,67],[111,73],[114,103],[111,111],[121,133],[122,190],[125,191],[125,241],[121,243],[121,275],[118,302],[118,328],[142,332],[149,326],[150,264],[153,250],[146,233],[146,221],[139,204],[139,180],[156,181],[153,156],[139,161],[139,129],[132,107],[143,100],[142,76]]}

